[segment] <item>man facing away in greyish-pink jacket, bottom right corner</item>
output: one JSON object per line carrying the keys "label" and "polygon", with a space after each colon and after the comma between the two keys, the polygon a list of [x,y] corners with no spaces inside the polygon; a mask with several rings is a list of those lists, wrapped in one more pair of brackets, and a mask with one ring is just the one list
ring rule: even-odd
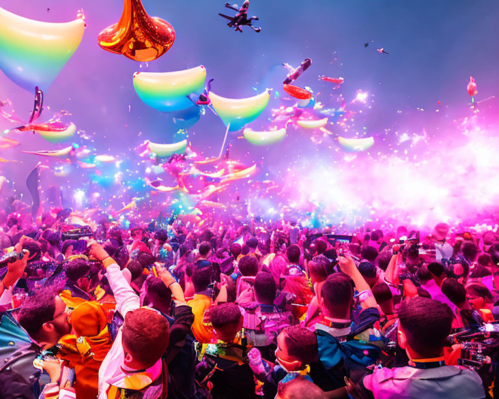
{"label": "man facing away in greyish-pink jacket, bottom right corner", "polygon": [[485,391],[477,373],[446,366],[444,344],[451,332],[451,309],[439,301],[414,297],[402,303],[398,341],[409,366],[375,368],[362,384],[375,399],[482,399]]}

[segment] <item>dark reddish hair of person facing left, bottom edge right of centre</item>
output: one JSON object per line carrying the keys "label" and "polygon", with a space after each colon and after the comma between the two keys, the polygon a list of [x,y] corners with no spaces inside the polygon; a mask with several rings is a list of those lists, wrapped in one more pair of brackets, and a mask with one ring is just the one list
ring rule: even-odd
{"label": "dark reddish hair of person facing left, bottom edge right of centre", "polygon": [[317,337],[310,330],[299,325],[286,327],[282,330],[287,353],[309,365],[317,360]]}

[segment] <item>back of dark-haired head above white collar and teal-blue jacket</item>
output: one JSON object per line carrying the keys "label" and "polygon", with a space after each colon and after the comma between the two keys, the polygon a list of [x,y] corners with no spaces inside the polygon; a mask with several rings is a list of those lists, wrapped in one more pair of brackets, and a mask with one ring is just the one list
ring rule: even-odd
{"label": "back of dark-haired head above white collar and teal-blue jacket", "polygon": [[353,282],[344,273],[327,276],[320,290],[320,307],[324,316],[345,319],[353,303]]}

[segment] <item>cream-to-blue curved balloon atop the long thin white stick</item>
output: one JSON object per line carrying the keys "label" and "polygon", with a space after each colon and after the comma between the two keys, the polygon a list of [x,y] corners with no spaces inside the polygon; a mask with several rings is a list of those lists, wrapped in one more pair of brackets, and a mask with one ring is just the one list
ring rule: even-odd
{"label": "cream-to-blue curved balloon atop the long thin white stick", "polygon": [[246,124],[253,122],[263,112],[268,104],[270,95],[268,89],[263,93],[248,98],[225,98],[210,92],[208,94],[212,102],[213,109],[224,122],[229,126],[230,132],[241,130]]}

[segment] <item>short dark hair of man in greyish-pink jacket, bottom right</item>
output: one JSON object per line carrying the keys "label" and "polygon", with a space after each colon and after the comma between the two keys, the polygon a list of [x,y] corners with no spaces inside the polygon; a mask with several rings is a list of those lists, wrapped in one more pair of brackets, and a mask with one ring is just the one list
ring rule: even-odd
{"label": "short dark hair of man in greyish-pink jacket, bottom right", "polygon": [[414,297],[402,302],[398,315],[407,342],[418,355],[432,358],[441,353],[454,318],[449,306],[433,299]]}

